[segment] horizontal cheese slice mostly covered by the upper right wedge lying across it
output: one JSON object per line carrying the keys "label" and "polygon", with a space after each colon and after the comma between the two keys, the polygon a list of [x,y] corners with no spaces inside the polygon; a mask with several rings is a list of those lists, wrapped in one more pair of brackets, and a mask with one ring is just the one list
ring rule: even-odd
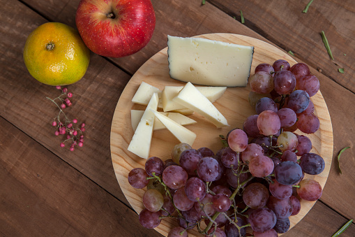
{"label": "horizontal cheese slice mostly covered by the upper right wedge lying across it", "polygon": [[[173,99],[179,94],[183,87],[177,86],[165,86],[162,92],[162,101],[163,101],[163,110],[172,111],[172,110],[181,110],[186,108],[185,106],[177,103]],[[206,96],[209,101],[212,103],[222,96],[225,93],[227,87],[196,87],[204,96]]]}

